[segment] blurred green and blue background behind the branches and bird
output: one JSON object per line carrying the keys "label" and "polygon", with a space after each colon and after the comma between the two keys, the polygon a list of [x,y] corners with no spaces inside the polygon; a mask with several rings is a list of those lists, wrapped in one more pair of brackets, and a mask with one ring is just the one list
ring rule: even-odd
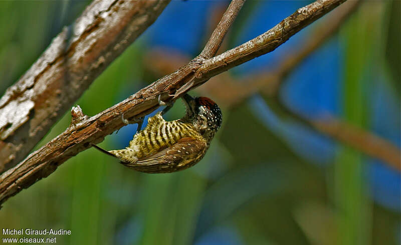
{"label": "blurred green and blue background behind the branches and bird", "polygon": [[[242,44],[309,3],[249,1],[223,46]],[[286,76],[281,100],[303,118],[331,114],[400,147],[400,3],[359,6]],[[0,2],[0,95],[88,4]],[[92,116],[165,75],[154,65],[162,62],[157,54],[185,64],[202,50],[227,5],[171,2],[76,104]],[[228,73],[241,81],[268,70],[321,21]],[[219,76],[208,83],[218,84]],[[263,94],[222,111],[223,127],[194,167],[143,174],[88,149],[10,198],[0,210],[0,228],[72,230],[57,236],[58,244],[401,244],[399,172],[283,114]],[[178,102],[165,118],[183,113]],[[36,149],[70,119],[67,112]],[[123,148],[135,130],[128,125],[100,146]]]}

